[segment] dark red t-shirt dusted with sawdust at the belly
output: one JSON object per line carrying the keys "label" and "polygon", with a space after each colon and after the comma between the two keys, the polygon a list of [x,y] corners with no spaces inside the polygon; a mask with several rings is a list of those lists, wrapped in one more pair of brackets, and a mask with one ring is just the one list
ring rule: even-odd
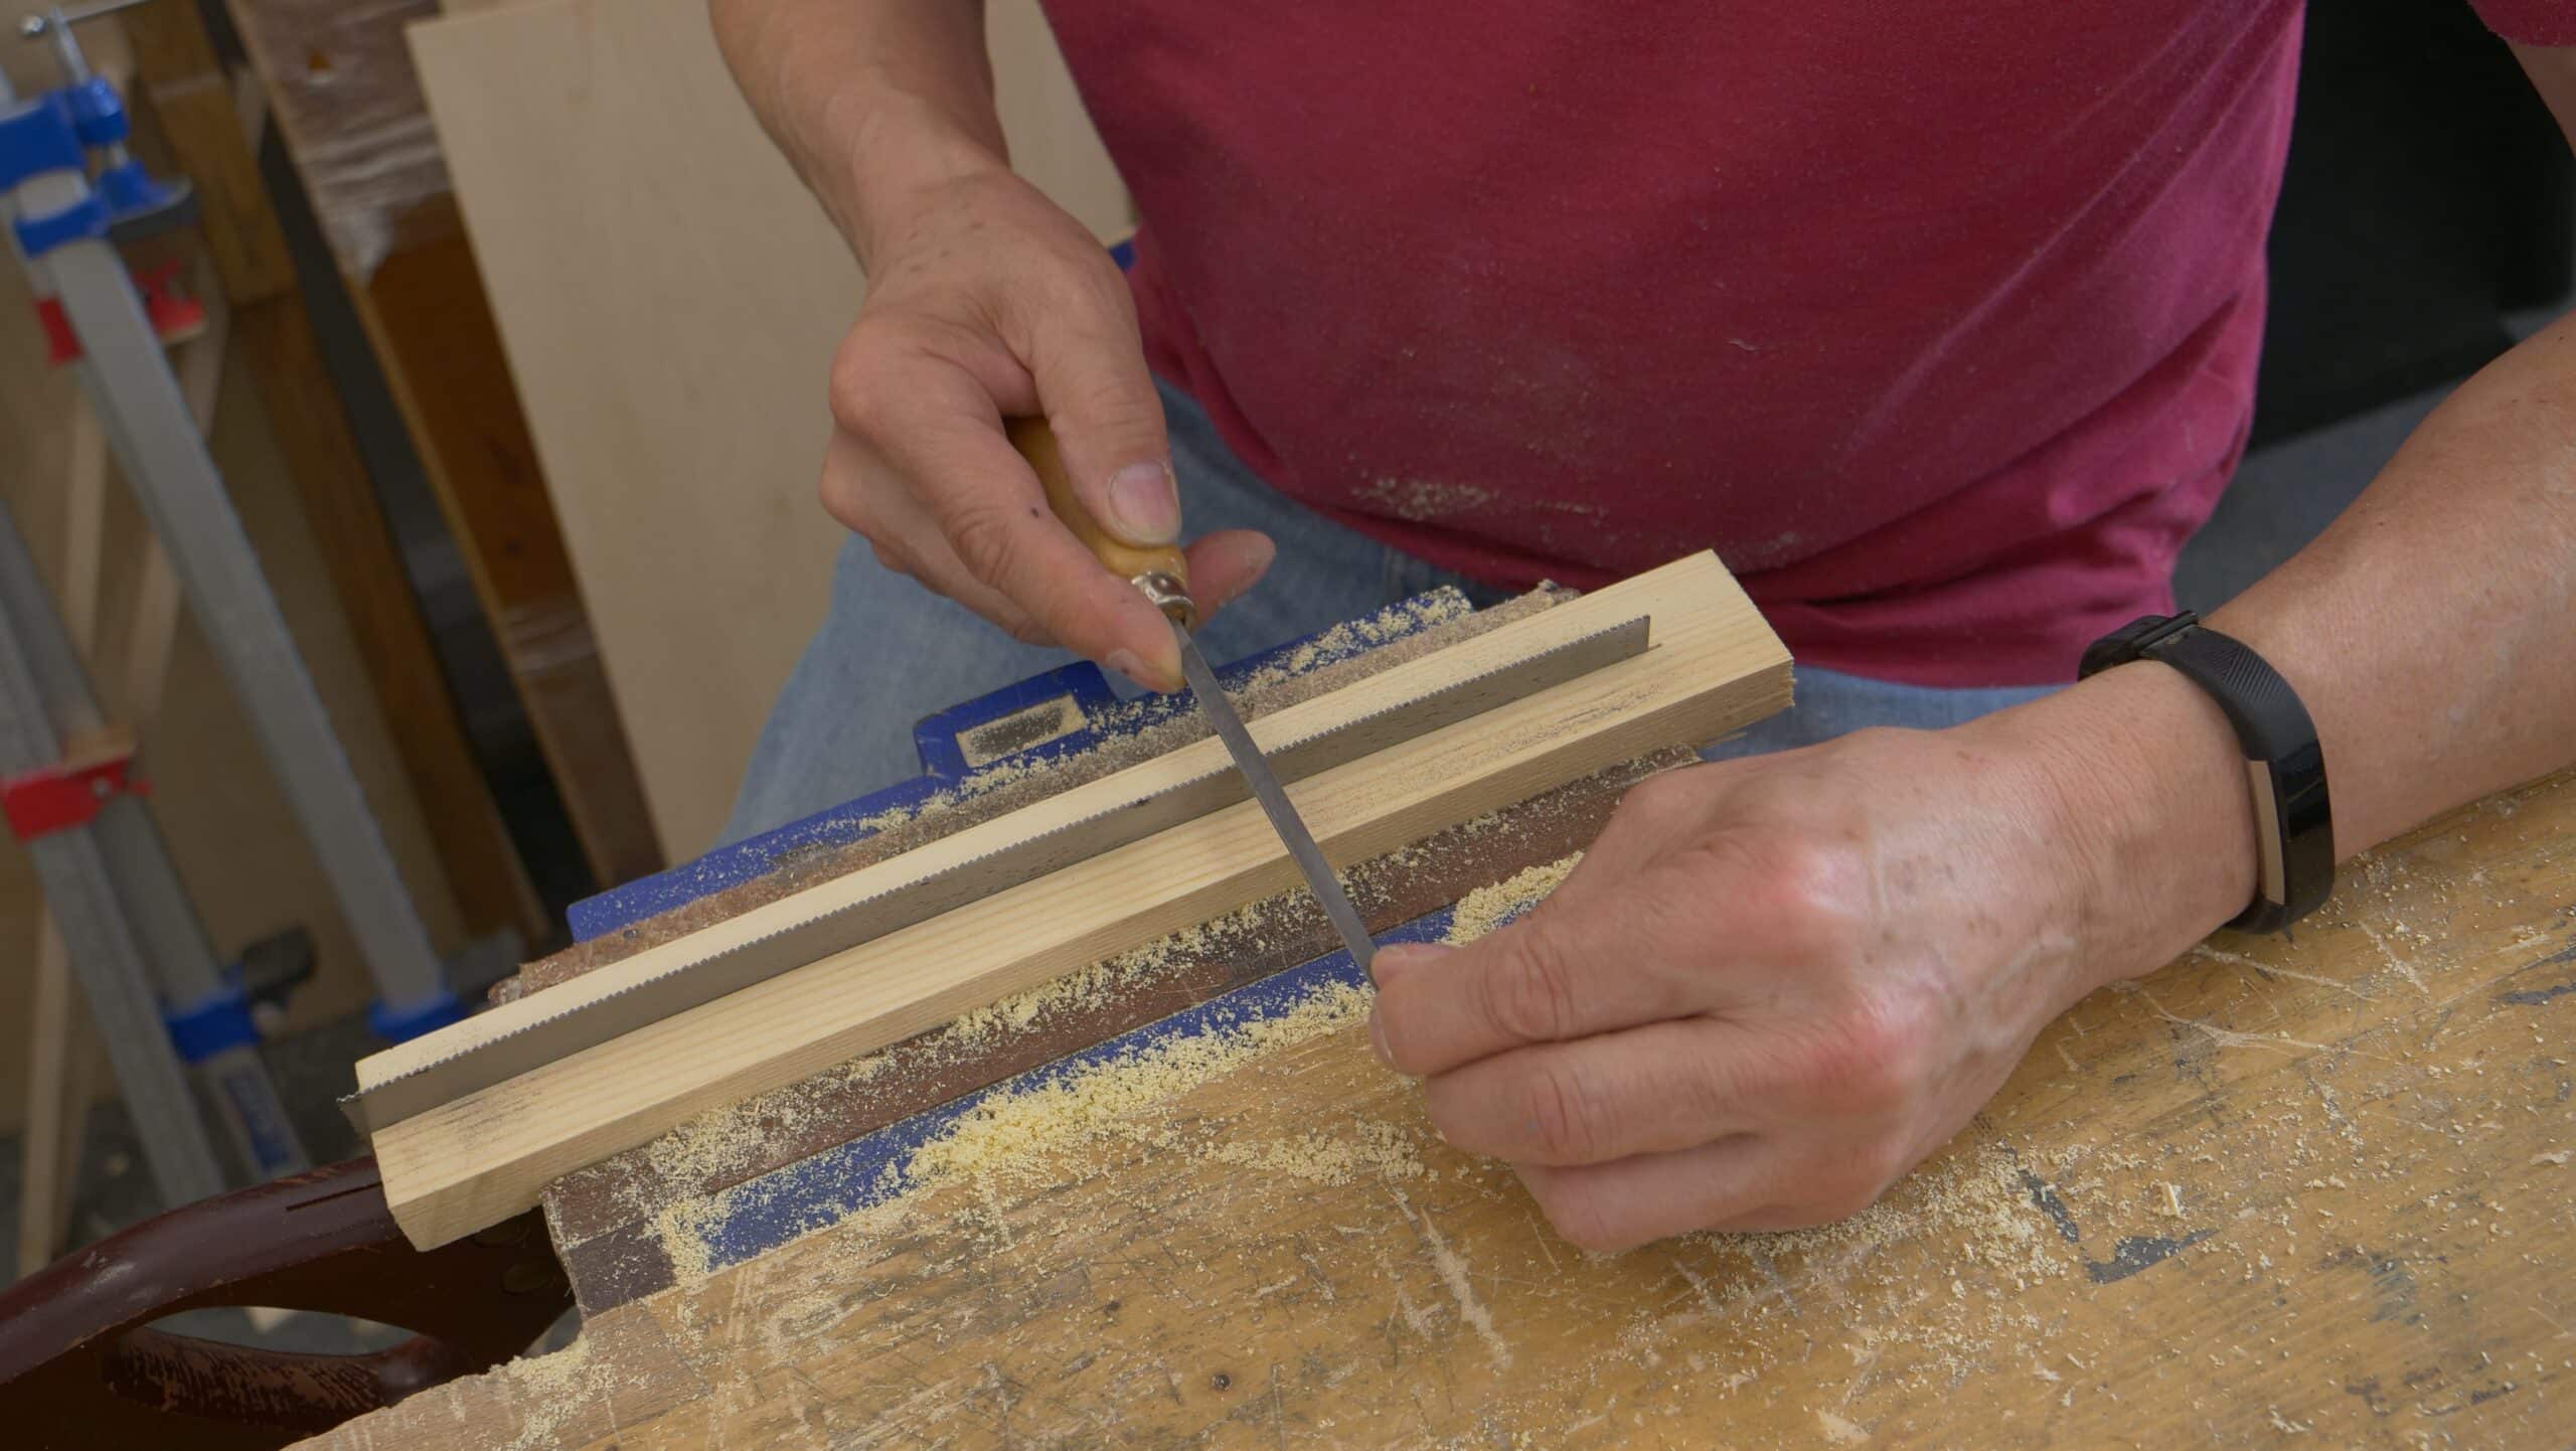
{"label": "dark red t-shirt dusted with sawdust at the belly", "polygon": [[1046,10],[1154,371],[1435,564],[1713,546],[1803,662],[2066,680],[2244,448],[2298,0]]}

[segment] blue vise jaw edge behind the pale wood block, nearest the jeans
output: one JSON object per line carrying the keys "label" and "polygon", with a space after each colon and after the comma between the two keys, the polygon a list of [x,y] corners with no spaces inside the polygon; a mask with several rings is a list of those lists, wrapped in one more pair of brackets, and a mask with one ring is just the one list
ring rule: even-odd
{"label": "blue vise jaw edge behind the pale wood block, nearest the jeans", "polygon": [[[1443,585],[1437,590],[1414,595],[1404,603],[1386,606],[1383,611],[1360,621],[1365,624],[1365,629],[1350,629],[1340,634],[1324,631],[1324,634],[1309,634],[1303,639],[1291,639],[1288,644],[1262,649],[1260,655],[1247,655],[1234,665],[1221,668],[1216,678],[1229,691],[1236,691],[1262,670],[1296,668],[1298,673],[1306,673],[1306,670],[1321,670],[1324,665],[1337,665],[1342,660],[1352,660],[1358,655],[1365,655],[1409,634],[1419,634],[1422,629],[1430,629],[1443,619],[1455,619],[1450,613],[1427,608],[1435,603],[1443,608],[1463,611],[1468,601],[1455,588]],[[1002,686],[999,691],[984,693],[974,701],[927,716],[914,729],[914,747],[920,747],[922,729],[930,729],[933,722],[966,722],[971,727],[1005,716],[1015,709],[1025,709],[1041,698],[1077,691],[1074,683],[1077,670],[1090,670],[1092,678],[1100,675],[1097,668],[1082,662],[1082,665],[1046,670],[1041,675],[1030,675],[1028,680],[1018,680],[1012,686]],[[1077,693],[1077,698],[1092,701],[1097,696]],[[1084,714],[1095,719],[1090,729],[1077,729],[1056,740],[1038,742],[1028,750],[1005,755],[992,765],[987,765],[987,771],[1005,765],[1020,768],[1033,760],[1079,755],[1084,750],[1092,750],[1095,745],[1131,737],[1141,729],[1172,719],[1175,714],[1193,709],[1198,706],[1188,691],[1177,696],[1146,696],[1139,701],[1103,706],[1097,711],[1090,704],[1084,704]],[[940,760],[933,760],[933,755],[940,755]],[[850,845],[855,840],[866,840],[878,830],[884,830],[876,822],[909,820],[925,802],[930,802],[940,791],[953,789],[963,778],[956,773],[943,776],[940,765],[945,763],[948,760],[943,753],[922,750],[922,776],[914,776],[912,781],[889,786],[884,791],[873,791],[868,796],[845,802],[827,812],[817,812],[811,817],[804,817],[801,822],[788,822],[773,832],[762,832],[732,845],[719,845],[716,850],[708,850],[696,861],[685,861],[680,866],[657,871],[652,876],[639,876],[623,887],[611,887],[598,897],[585,897],[564,912],[564,920],[572,928],[572,941],[587,943],[592,938],[621,933],[641,923],[644,918],[654,918],[675,907],[685,907],[714,892],[724,892],[729,887],[739,887],[744,881],[768,876],[791,856],[829,850]],[[958,758],[956,765],[961,768],[963,758]]]}

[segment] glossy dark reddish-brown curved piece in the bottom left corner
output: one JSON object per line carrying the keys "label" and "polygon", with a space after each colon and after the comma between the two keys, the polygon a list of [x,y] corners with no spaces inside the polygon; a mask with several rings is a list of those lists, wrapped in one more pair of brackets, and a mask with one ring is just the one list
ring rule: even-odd
{"label": "glossy dark reddish-brown curved piece in the bottom left corner", "polygon": [[[415,1335],[374,1356],[296,1356],[152,1327],[222,1304]],[[286,1446],[487,1371],[569,1307],[541,1214],[420,1253],[376,1160],[350,1160],[173,1209],[0,1291],[0,1428],[39,1448]]]}

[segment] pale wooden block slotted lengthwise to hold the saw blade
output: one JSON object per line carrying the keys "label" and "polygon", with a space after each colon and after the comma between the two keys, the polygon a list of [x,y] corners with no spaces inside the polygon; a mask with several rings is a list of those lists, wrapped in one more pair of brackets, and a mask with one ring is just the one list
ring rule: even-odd
{"label": "pale wooden block slotted lengthwise to hold the saw blade", "polygon": [[[1788,652],[1723,564],[1695,554],[1283,709],[1252,732],[1265,745],[1296,740],[1638,613],[1654,619],[1646,655],[1291,786],[1314,838],[1345,863],[1381,856],[1659,745],[1713,740],[1788,704]],[[1175,750],[374,1054],[358,1064],[358,1082],[384,1082],[734,941],[1224,765],[1224,745],[1213,740]],[[374,1137],[386,1201],[417,1245],[443,1245],[528,1209],[554,1178],[690,1113],[796,1082],[1293,881],[1296,866],[1260,807],[1226,807],[394,1124]]]}

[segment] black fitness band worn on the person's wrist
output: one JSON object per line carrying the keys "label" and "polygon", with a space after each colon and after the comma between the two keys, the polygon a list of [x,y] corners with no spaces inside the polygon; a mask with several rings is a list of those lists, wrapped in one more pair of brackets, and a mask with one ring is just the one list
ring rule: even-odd
{"label": "black fitness band worn on the person's wrist", "polygon": [[2182,670],[2218,701],[2244,742],[2262,876],[2254,905],[2228,925],[2277,933],[2313,912],[2334,892],[2334,809],[2326,802],[2326,753],[2298,691],[2244,642],[2202,629],[2192,611],[2141,616],[2105,634],[2084,649],[2076,678],[2130,660]]}

